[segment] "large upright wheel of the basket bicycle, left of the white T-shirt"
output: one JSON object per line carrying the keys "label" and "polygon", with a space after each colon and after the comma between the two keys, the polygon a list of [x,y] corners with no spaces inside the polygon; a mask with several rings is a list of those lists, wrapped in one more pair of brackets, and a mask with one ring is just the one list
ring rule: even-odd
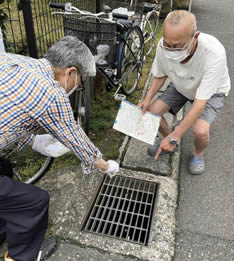
{"label": "large upright wheel of the basket bicycle, left of the white T-shirt", "polygon": [[144,39],[139,27],[126,33],[120,51],[118,71],[121,72],[122,91],[131,95],[137,88],[143,63]]}

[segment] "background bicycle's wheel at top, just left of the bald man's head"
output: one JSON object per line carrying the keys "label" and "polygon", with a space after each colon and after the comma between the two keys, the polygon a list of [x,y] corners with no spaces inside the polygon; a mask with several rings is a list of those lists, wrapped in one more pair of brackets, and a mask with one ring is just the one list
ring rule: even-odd
{"label": "background bicycle's wheel at top, just left of the bald man's head", "polygon": [[158,23],[159,15],[156,11],[147,13],[143,28],[144,57],[148,56],[154,47]]}

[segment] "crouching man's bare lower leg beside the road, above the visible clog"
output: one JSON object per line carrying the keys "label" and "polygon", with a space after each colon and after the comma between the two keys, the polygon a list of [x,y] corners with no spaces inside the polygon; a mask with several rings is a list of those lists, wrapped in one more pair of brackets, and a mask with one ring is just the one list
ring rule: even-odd
{"label": "crouching man's bare lower leg beside the road, above the visible clog", "polygon": [[194,149],[192,154],[202,156],[204,149],[209,144],[210,124],[202,119],[198,119],[193,128]]}

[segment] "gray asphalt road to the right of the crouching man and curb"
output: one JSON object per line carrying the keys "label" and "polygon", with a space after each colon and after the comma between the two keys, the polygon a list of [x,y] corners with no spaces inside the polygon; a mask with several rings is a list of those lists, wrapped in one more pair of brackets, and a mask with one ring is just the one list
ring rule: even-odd
{"label": "gray asphalt road to the right of the crouching man and curb", "polygon": [[[194,0],[198,30],[214,35],[226,48],[234,83],[234,1]],[[180,196],[174,261],[234,260],[234,90],[211,128],[205,152],[206,172],[188,173],[191,131],[182,141]]]}

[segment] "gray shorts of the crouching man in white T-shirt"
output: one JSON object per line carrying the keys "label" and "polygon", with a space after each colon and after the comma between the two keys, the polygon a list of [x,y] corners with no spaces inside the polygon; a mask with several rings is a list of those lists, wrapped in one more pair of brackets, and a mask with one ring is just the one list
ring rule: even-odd
{"label": "gray shorts of the crouching man in white T-shirt", "polygon": [[[189,100],[179,93],[173,84],[169,84],[166,91],[158,99],[165,102],[170,107],[169,112],[173,115],[176,115],[187,101],[193,103],[193,100]],[[211,96],[207,101],[205,110],[201,114],[200,119],[211,124],[215,120],[217,113],[219,113],[224,106],[224,99],[224,93],[217,93]]]}

